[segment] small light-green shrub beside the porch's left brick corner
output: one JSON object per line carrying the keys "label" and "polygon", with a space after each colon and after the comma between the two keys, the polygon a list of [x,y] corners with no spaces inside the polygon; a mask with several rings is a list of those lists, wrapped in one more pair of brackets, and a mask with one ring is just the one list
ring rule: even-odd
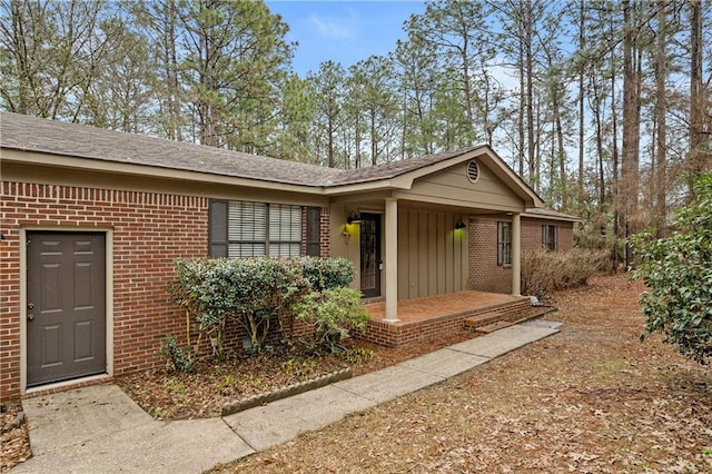
{"label": "small light-green shrub beside the porch's left brick corner", "polygon": [[335,350],[353,329],[363,330],[369,316],[360,304],[360,294],[352,288],[312,292],[294,307],[297,318],[314,327],[315,348]]}

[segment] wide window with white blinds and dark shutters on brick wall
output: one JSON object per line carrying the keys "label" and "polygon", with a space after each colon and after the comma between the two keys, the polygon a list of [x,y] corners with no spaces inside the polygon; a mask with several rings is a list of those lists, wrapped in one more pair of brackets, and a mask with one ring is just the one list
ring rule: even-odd
{"label": "wide window with white blinds and dark shutters on brick wall", "polygon": [[[303,215],[319,216],[301,206],[251,201],[210,201],[209,240],[211,257],[297,257],[303,254]],[[307,226],[307,253],[318,251],[308,243],[319,226]],[[318,255],[318,253],[316,254]]]}

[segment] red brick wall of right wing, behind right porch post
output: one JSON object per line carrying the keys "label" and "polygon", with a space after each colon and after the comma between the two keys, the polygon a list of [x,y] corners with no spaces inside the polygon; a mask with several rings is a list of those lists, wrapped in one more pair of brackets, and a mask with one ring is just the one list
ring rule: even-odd
{"label": "red brick wall of right wing, behind right porch post", "polygon": [[[506,218],[471,218],[469,236],[469,278],[468,289],[492,293],[512,293],[512,266],[497,265],[497,221]],[[573,248],[573,223],[522,218],[522,251],[542,248],[542,226],[557,226],[558,250]]]}

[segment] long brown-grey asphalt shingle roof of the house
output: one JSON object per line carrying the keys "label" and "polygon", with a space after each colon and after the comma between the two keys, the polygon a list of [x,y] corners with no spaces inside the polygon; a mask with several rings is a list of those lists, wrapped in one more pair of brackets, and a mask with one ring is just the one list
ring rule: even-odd
{"label": "long brown-grey asphalt shingle roof of the house", "polygon": [[343,170],[10,112],[0,113],[0,146],[312,187],[389,179],[473,149]]}

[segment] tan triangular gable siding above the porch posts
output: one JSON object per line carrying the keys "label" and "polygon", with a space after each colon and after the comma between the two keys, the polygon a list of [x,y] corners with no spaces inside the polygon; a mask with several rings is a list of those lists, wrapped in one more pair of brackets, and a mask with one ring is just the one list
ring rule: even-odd
{"label": "tan triangular gable siding above the porch posts", "polygon": [[[476,160],[476,159],[475,159]],[[431,204],[464,206],[475,210],[523,211],[524,201],[486,166],[479,165],[476,182],[467,178],[467,164],[417,179],[408,190],[396,194],[399,199]]]}

